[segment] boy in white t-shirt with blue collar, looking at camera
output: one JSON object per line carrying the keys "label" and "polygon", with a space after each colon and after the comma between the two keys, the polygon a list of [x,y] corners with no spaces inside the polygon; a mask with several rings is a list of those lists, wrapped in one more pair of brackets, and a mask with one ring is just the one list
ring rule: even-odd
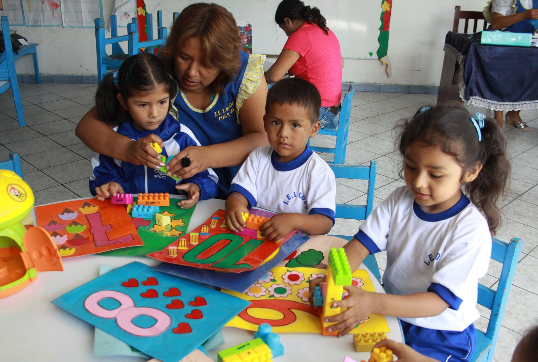
{"label": "boy in white t-shirt with blue collar, looking at camera", "polygon": [[320,129],[321,97],[313,84],[288,78],[267,93],[264,127],[270,146],[252,151],[239,169],[226,200],[226,225],[243,230],[241,212],[260,207],[278,212],[261,226],[267,240],[293,229],[328,233],[335,221],[335,175],[307,145]]}

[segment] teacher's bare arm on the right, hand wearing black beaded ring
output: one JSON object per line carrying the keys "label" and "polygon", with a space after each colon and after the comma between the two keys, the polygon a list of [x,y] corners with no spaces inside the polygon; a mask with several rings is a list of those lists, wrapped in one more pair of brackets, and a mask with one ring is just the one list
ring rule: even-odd
{"label": "teacher's bare arm on the right, hand wearing black beaded ring", "polygon": [[[260,146],[269,143],[264,130],[265,99],[267,97],[267,83],[264,77],[260,78],[258,89],[243,102],[239,112],[243,136],[229,142],[202,146],[187,147],[174,157],[166,168],[166,173],[187,179],[205,169],[237,166],[243,163],[247,156]],[[191,160],[189,167],[181,167],[178,162],[183,157]]]}

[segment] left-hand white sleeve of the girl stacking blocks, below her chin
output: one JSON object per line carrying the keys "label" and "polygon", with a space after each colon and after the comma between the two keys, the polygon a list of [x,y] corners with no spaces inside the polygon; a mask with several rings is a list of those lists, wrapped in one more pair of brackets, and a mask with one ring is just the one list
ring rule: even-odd
{"label": "left-hand white sleeve of the girl stacking blocks, below her chin", "polygon": [[391,218],[401,194],[406,187],[399,187],[392,191],[377,208],[373,209],[366,220],[360,224],[355,238],[362,243],[370,254],[387,250],[388,232],[391,229]]}

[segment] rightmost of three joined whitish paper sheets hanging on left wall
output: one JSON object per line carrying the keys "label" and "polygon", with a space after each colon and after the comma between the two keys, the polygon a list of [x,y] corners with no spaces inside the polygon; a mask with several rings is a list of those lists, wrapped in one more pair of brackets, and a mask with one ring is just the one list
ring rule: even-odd
{"label": "rightmost of three joined whitish paper sheets hanging on left wall", "polygon": [[64,27],[94,27],[94,19],[103,18],[101,0],[61,0]]}

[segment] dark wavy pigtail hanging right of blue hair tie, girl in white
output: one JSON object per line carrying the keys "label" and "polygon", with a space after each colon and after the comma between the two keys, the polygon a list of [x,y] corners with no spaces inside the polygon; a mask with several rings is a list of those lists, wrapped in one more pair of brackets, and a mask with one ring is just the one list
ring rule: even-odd
{"label": "dark wavy pigtail hanging right of blue hair tie, girl in white", "polygon": [[506,158],[506,139],[494,120],[484,119],[484,127],[480,131],[485,153],[483,159],[486,161],[477,178],[465,183],[465,191],[472,203],[484,213],[494,235],[501,224],[497,202],[504,194],[511,167]]}

